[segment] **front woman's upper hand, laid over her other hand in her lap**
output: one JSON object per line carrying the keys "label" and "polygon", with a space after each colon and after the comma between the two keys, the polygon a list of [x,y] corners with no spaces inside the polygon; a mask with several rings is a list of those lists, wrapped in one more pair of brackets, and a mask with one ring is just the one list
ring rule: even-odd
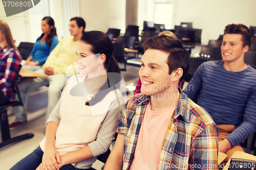
{"label": "front woman's upper hand, laid over her other hand in her lap", "polygon": [[[42,167],[43,169],[55,170],[59,169],[60,156],[57,150],[53,147],[46,148],[44,155],[42,155]],[[39,167],[39,166],[38,166]]]}

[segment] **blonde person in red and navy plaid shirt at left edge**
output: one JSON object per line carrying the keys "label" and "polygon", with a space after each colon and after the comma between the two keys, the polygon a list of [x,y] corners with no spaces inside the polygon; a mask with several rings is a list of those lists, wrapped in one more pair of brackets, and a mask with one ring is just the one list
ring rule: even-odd
{"label": "blonde person in red and navy plaid shirt at left edge", "polygon": [[0,105],[15,101],[12,82],[21,57],[8,24],[0,20]]}

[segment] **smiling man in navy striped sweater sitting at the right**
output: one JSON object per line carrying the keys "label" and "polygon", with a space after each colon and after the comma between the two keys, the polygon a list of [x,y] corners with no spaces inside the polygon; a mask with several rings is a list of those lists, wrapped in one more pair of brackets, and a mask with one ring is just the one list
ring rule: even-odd
{"label": "smiling man in navy striped sweater sitting at the right", "polygon": [[184,91],[189,99],[199,93],[197,104],[218,125],[219,151],[228,155],[225,161],[243,151],[239,143],[256,130],[256,70],[244,62],[251,42],[246,26],[226,26],[222,60],[204,62]]}

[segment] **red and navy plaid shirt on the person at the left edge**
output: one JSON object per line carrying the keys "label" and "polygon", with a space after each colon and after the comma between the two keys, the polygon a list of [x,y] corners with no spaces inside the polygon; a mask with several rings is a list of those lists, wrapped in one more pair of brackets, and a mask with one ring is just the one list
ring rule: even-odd
{"label": "red and navy plaid shirt on the person at the left edge", "polygon": [[20,60],[21,58],[14,48],[5,47],[0,50],[0,90],[3,91],[6,99],[11,102],[15,101],[11,85]]}

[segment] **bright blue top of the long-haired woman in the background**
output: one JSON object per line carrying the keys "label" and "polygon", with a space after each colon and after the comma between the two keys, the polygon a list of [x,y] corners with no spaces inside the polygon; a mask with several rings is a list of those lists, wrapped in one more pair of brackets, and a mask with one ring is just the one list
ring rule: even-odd
{"label": "bright blue top of the long-haired woman in the background", "polygon": [[38,61],[39,65],[43,65],[48,56],[50,55],[50,53],[52,52],[52,50],[55,48],[55,46],[59,43],[59,40],[57,38],[57,36],[53,37],[52,39],[52,44],[49,47],[47,47],[47,43],[46,42],[42,42],[40,43],[40,39],[38,39],[34,46],[33,49],[30,53],[29,56],[32,56],[33,59],[32,61]]}

